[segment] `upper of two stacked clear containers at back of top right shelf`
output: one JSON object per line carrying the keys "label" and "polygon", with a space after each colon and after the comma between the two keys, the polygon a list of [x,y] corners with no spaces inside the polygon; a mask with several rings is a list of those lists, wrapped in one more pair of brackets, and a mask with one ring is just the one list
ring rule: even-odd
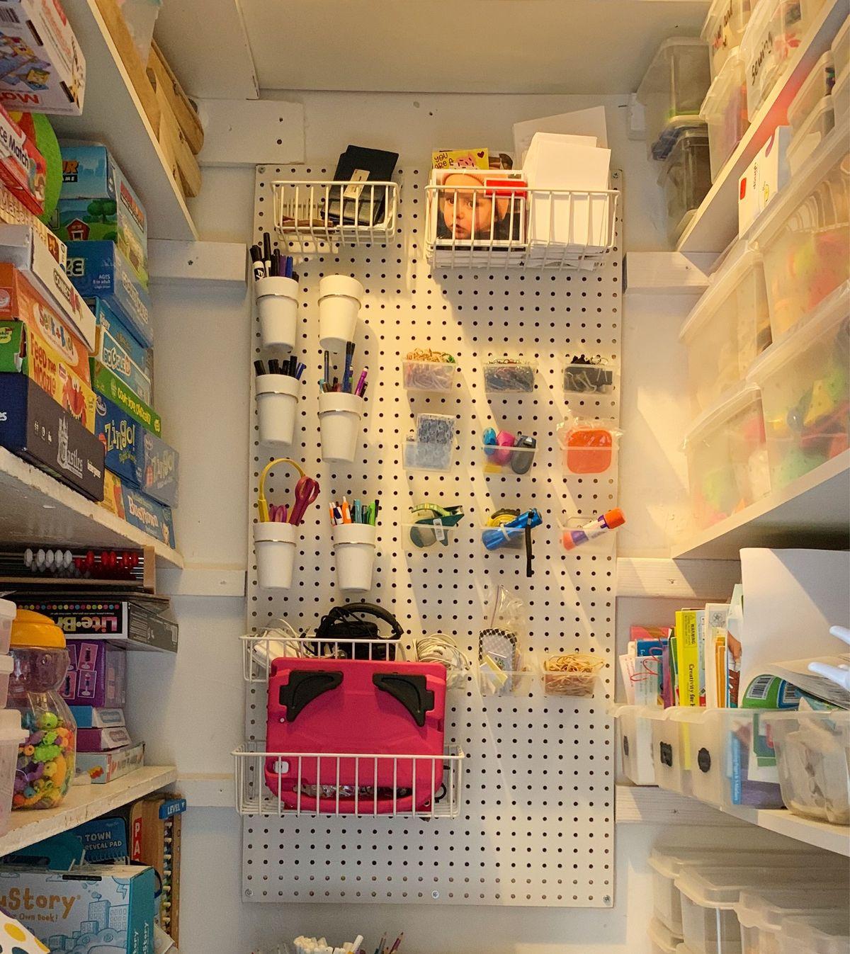
{"label": "upper of two stacked clear containers at back of top right shelf", "polygon": [[676,36],[661,44],[637,88],[637,101],[646,115],[651,158],[667,158],[680,135],[702,125],[699,108],[710,83],[705,40]]}

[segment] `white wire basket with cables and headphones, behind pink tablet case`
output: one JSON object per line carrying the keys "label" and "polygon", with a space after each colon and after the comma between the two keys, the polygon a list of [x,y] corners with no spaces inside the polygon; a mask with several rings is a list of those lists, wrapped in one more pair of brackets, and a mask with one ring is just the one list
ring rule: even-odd
{"label": "white wire basket with cables and headphones, behind pink tablet case", "polygon": [[268,685],[273,659],[368,659],[416,661],[416,653],[400,639],[317,639],[315,635],[290,636],[282,630],[240,636],[242,677],[245,682]]}

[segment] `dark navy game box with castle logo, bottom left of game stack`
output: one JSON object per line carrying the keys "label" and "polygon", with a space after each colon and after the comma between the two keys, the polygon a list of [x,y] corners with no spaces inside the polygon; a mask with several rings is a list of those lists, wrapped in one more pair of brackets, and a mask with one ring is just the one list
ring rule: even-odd
{"label": "dark navy game box with castle logo, bottom left of game stack", "polygon": [[0,446],[103,500],[103,445],[22,374],[0,374]]}

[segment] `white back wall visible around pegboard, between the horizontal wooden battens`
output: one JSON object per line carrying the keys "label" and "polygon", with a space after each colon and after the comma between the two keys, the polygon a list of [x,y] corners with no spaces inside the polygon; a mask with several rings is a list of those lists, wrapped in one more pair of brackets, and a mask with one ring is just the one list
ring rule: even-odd
{"label": "white back wall visible around pegboard, between the horizontal wooden battens", "polygon": [[[284,97],[286,98],[286,97]],[[510,148],[510,125],[595,105],[590,97],[303,94],[307,155],[337,156],[349,142],[422,156],[435,146],[479,142]],[[387,118],[391,101],[393,120]],[[614,165],[625,172],[627,248],[664,247],[656,169],[642,143],[625,135],[625,97],[607,97]],[[399,121],[402,115],[404,121]],[[250,242],[254,172],[205,169],[194,212],[203,239]],[[181,451],[177,540],[191,564],[244,566],[247,530],[249,306],[244,295],[155,292],[156,389],[165,432]],[[680,315],[661,302],[626,314],[621,456],[622,503],[629,527],[621,550],[667,555],[668,531],[684,519],[683,467],[676,449],[684,427]],[[679,426],[681,425],[681,427]],[[633,603],[633,601],[630,601]],[[231,770],[229,752],[241,740],[244,694],[237,639],[244,600],[175,600],[180,622],[176,660],[138,654],[132,685],[147,684],[131,704],[135,731],[152,762],[174,762],[181,773]],[[630,606],[632,621],[660,621]],[[647,607],[647,612],[650,608]],[[653,613],[661,612],[657,605]],[[633,614],[633,615],[632,615]],[[662,619],[665,618],[663,615]],[[619,630],[628,620],[622,620]],[[142,700],[157,698],[156,706]],[[403,929],[405,954],[646,954],[650,912],[646,857],[657,831],[632,825],[617,831],[616,905],[570,908],[441,908],[428,905],[243,904],[241,823],[230,809],[194,808],[185,821],[182,954],[248,954],[300,932],[370,935]],[[704,836],[713,839],[716,830]],[[681,830],[689,840],[694,831]],[[253,945],[253,946],[252,946]]]}

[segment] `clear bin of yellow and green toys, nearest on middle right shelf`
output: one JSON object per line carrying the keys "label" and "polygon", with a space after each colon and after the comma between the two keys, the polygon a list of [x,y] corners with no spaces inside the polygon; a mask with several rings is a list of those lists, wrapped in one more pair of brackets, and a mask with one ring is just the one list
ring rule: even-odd
{"label": "clear bin of yellow and green toys, nearest on middle right shelf", "polygon": [[808,321],[758,359],[771,487],[785,487],[840,454],[850,433],[847,342],[850,289],[820,303]]}

